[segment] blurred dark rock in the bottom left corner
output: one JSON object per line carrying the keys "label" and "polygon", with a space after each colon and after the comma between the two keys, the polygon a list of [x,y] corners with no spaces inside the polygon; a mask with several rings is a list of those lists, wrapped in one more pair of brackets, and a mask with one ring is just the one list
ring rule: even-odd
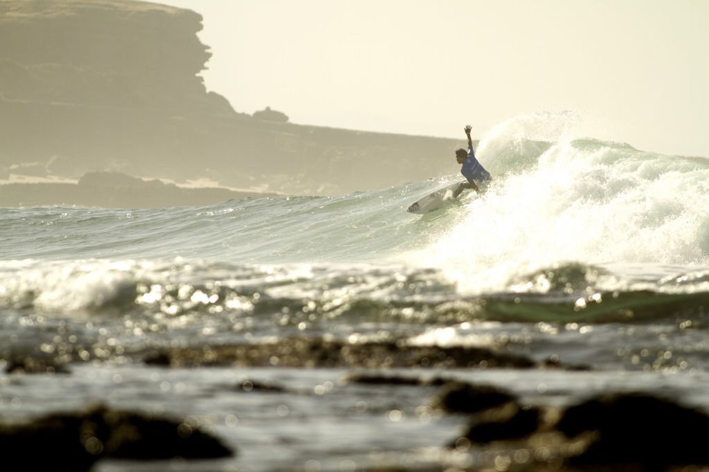
{"label": "blurred dark rock in the bottom left corner", "polygon": [[232,456],[218,439],[185,422],[102,405],[26,424],[0,424],[5,463],[23,470],[81,471],[104,457],[208,459]]}

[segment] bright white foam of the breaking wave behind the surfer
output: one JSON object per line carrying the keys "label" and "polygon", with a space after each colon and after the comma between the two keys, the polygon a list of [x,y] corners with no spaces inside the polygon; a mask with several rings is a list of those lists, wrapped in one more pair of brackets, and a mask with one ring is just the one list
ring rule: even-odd
{"label": "bright white foam of the breaking wave behind the surfer", "polygon": [[[709,264],[708,159],[559,136],[534,166],[472,200],[418,262],[463,292],[508,290],[519,274],[565,262]],[[514,149],[506,140],[498,130],[481,142],[481,161]]]}

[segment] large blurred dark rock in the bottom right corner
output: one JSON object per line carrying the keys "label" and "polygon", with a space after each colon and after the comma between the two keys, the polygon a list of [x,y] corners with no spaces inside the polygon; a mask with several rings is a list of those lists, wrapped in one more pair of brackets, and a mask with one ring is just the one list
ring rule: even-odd
{"label": "large blurred dark rock in the bottom right corner", "polygon": [[482,448],[497,470],[670,471],[709,465],[708,427],[705,412],[644,393],[599,395],[568,408],[513,398],[471,416],[450,446]]}

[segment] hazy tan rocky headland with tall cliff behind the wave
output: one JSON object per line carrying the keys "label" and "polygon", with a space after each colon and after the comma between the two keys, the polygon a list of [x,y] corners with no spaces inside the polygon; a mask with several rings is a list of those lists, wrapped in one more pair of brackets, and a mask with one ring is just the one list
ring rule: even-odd
{"label": "hazy tan rocky headland with tall cliff behind the wave", "polygon": [[[452,172],[462,139],[297,125],[268,107],[238,113],[197,75],[211,56],[201,28],[193,11],[142,1],[0,1],[0,179],[121,172],[339,195]],[[65,203],[55,189],[31,193],[45,191],[43,204]],[[17,204],[8,193],[0,188],[0,205]]]}

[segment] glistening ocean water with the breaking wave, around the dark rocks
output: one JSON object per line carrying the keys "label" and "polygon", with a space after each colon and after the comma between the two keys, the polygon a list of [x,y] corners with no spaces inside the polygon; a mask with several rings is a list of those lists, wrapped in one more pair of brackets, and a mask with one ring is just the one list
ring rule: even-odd
{"label": "glistening ocean water with the breaking wave, around the dark rocks", "polygon": [[[294,337],[489,347],[583,369],[390,373],[493,383],[548,405],[642,390],[709,411],[709,159],[509,126],[478,156],[488,193],[423,216],[406,208],[460,179],[452,157],[449,176],[338,197],[0,208],[0,362],[70,370],[0,373],[0,417],[101,401],[190,416],[237,452],[100,471],[474,468],[444,447],[466,421],[426,409],[432,387],[363,386],[344,380],[351,367],[277,357],[144,362]],[[247,379],[282,389],[237,388]]]}

